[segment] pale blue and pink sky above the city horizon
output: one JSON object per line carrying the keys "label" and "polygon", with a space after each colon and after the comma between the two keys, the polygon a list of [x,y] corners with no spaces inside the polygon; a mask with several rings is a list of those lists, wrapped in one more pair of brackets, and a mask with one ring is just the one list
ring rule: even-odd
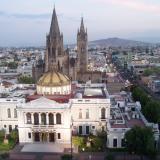
{"label": "pale blue and pink sky above the city horizon", "polygon": [[160,0],[0,0],[0,46],[45,46],[54,5],[65,44],[82,16],[89,41],[160,42]]}

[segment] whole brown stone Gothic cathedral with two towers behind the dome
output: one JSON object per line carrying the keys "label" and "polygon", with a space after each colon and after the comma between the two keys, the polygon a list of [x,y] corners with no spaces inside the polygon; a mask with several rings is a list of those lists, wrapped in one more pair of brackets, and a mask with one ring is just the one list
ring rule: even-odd
{"label": "whole brown stone Gothic cathedral with two towers behind the dome", "polygon": [[58,71],[72,81],[99,82],[101,72],[88,71],[88,34],[83,18],[77,33],[76,57],[70,56],[70,50],[64,49],[63,34],[60,32],[56,10],[54,8],[49,34],[46,37],[44,62],[39,60],[33,66],[33,78],[37,81],[43,73]]}

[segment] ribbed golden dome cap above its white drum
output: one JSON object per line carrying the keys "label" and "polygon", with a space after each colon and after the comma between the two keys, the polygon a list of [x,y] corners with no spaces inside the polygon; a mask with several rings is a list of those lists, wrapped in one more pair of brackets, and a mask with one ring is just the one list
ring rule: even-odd
{"label": "ribbed golden dome cap above its white drum", "polygon": [[70,79],[65,74],[59,72],[47,72],[39,79],[37,85],[56,87],[69,85],[70,83]]}

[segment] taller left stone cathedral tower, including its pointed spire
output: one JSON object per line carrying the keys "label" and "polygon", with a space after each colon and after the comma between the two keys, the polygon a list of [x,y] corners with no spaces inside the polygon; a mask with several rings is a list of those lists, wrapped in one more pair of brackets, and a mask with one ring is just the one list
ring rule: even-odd
{"label": "taller left stone cathedral tower, including its pointed spire", "polygon": [[56,10],[54,8],[50,32],[47,35],[46,54],[45,54],[45,72],[53,70],[62,70],[61,57],[63,57],[63,35],[60,33]]}

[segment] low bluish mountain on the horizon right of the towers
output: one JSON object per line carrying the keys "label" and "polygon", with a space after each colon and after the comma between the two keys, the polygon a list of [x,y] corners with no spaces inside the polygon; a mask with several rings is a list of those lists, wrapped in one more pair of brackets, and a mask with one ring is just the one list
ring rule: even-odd
{"label": "low bluish mountain on the horizon right of the towers", "polygon": [[148,45],[153,45],[153,44],[147,43],[147,42],[141,42],[141,41],[121,39],[121,38],[108,38],[108,39],[100,39],[100,40],[89,42],[89,47],[95,47],[95,46],[132,47],[132,46],[148,46]]}

